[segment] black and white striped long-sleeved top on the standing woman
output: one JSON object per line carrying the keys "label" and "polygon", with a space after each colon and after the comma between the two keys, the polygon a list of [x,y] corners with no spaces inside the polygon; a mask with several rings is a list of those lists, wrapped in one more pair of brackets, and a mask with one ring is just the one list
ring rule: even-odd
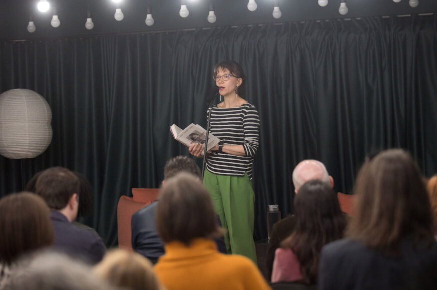
{"label": "black and white striped long-sleeved top on the standing woman", "polygon": [[210,132],[224,144],[243,145],[245,156],[212,151],[206,160],[208,171],[219,175],[244,176],[252,179],[252,164],[259,139],[259,115],[245,103],[235,108],[212,107]]}

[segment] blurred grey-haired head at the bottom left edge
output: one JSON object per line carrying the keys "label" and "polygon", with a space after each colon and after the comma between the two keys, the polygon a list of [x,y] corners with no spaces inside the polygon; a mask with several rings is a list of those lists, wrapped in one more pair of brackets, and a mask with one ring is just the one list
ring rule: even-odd
{"label": "blurred grey-haired head at the bottom left edge", "polygon": [[[7,289],[26,290],[111,290],[95,277],[92,268],[64,254],[42,252],[25,257],[11,272]],[[9,288],[8,288],[9,287]]]}

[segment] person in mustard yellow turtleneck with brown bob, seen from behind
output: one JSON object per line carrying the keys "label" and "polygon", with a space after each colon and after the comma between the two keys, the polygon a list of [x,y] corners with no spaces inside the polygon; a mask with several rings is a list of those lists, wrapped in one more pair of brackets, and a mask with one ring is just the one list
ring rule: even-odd
{"label": "person in mustard yellow turtleneck with brown bob, seen from behind", "polygon": [[269,290],[255,264],[246,257],[224,255],[213,239],[223,235],[215,223],[205,187],[187,173],[163,186],[156,228],[165,254],[154,267],[167,290]]}

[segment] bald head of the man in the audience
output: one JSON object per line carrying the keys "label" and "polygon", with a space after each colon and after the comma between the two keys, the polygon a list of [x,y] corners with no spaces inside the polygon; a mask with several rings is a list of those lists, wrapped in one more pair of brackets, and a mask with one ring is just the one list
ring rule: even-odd
{"label": "bald head of the man in the audience", "polygon": [[313,179],[319,179],[331,188],[334,186],[334,180],[329,176],[323,163],[307,159],[299,162],[293,170],[294,192],[297,193],[305,182]]}

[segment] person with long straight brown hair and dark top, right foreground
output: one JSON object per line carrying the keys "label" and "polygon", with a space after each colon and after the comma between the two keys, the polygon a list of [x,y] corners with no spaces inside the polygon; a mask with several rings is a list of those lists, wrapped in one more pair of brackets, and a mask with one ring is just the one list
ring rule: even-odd
{"label": "person with long straight brown hair and dark top, right foreground", "polygon": [[320,290],[437,289],[437,242],[419,168],[401,149],[366,162],[346,239],[323,247]]}

